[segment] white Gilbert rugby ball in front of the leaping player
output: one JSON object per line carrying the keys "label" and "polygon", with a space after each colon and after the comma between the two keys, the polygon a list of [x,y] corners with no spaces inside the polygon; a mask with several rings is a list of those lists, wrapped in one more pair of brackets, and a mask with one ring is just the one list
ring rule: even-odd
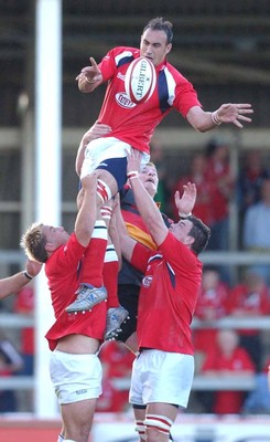
{"label": "white Gilbert rugby ball in front of the leaping player", "polygon": [[150,60],[140,56],[130,63],[126,72],[125,88],[132,103],[145,103],[152,96],[155,84],[155,69]]}

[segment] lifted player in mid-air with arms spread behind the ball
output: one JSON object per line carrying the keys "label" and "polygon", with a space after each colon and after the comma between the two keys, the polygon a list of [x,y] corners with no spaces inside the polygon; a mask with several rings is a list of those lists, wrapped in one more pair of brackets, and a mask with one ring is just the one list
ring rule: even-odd
{"label": "lifted player in mid-air with arms spread behind the ball", "polygon": [[131,146],[142,152],[142,166],[149,161],[153,131],[171,110],[177,110],[202,133],[222,123],[241,128],[242,123],[251,122],[250,104],[223,104],[217,110],[203,110],[193,85],[166,61],[172,40],[172,23],[163,18],[152,19],[143,29],[140,49],[114,48],[99,64],[90,57],[91,65],[76,77],[83,93],[91,93],[108,82],[98,123],[109,129],[83,146],[85,157],[80,170],[80,178],[95,169],[98,172],[97,209],[126,183],[127,151]]}

